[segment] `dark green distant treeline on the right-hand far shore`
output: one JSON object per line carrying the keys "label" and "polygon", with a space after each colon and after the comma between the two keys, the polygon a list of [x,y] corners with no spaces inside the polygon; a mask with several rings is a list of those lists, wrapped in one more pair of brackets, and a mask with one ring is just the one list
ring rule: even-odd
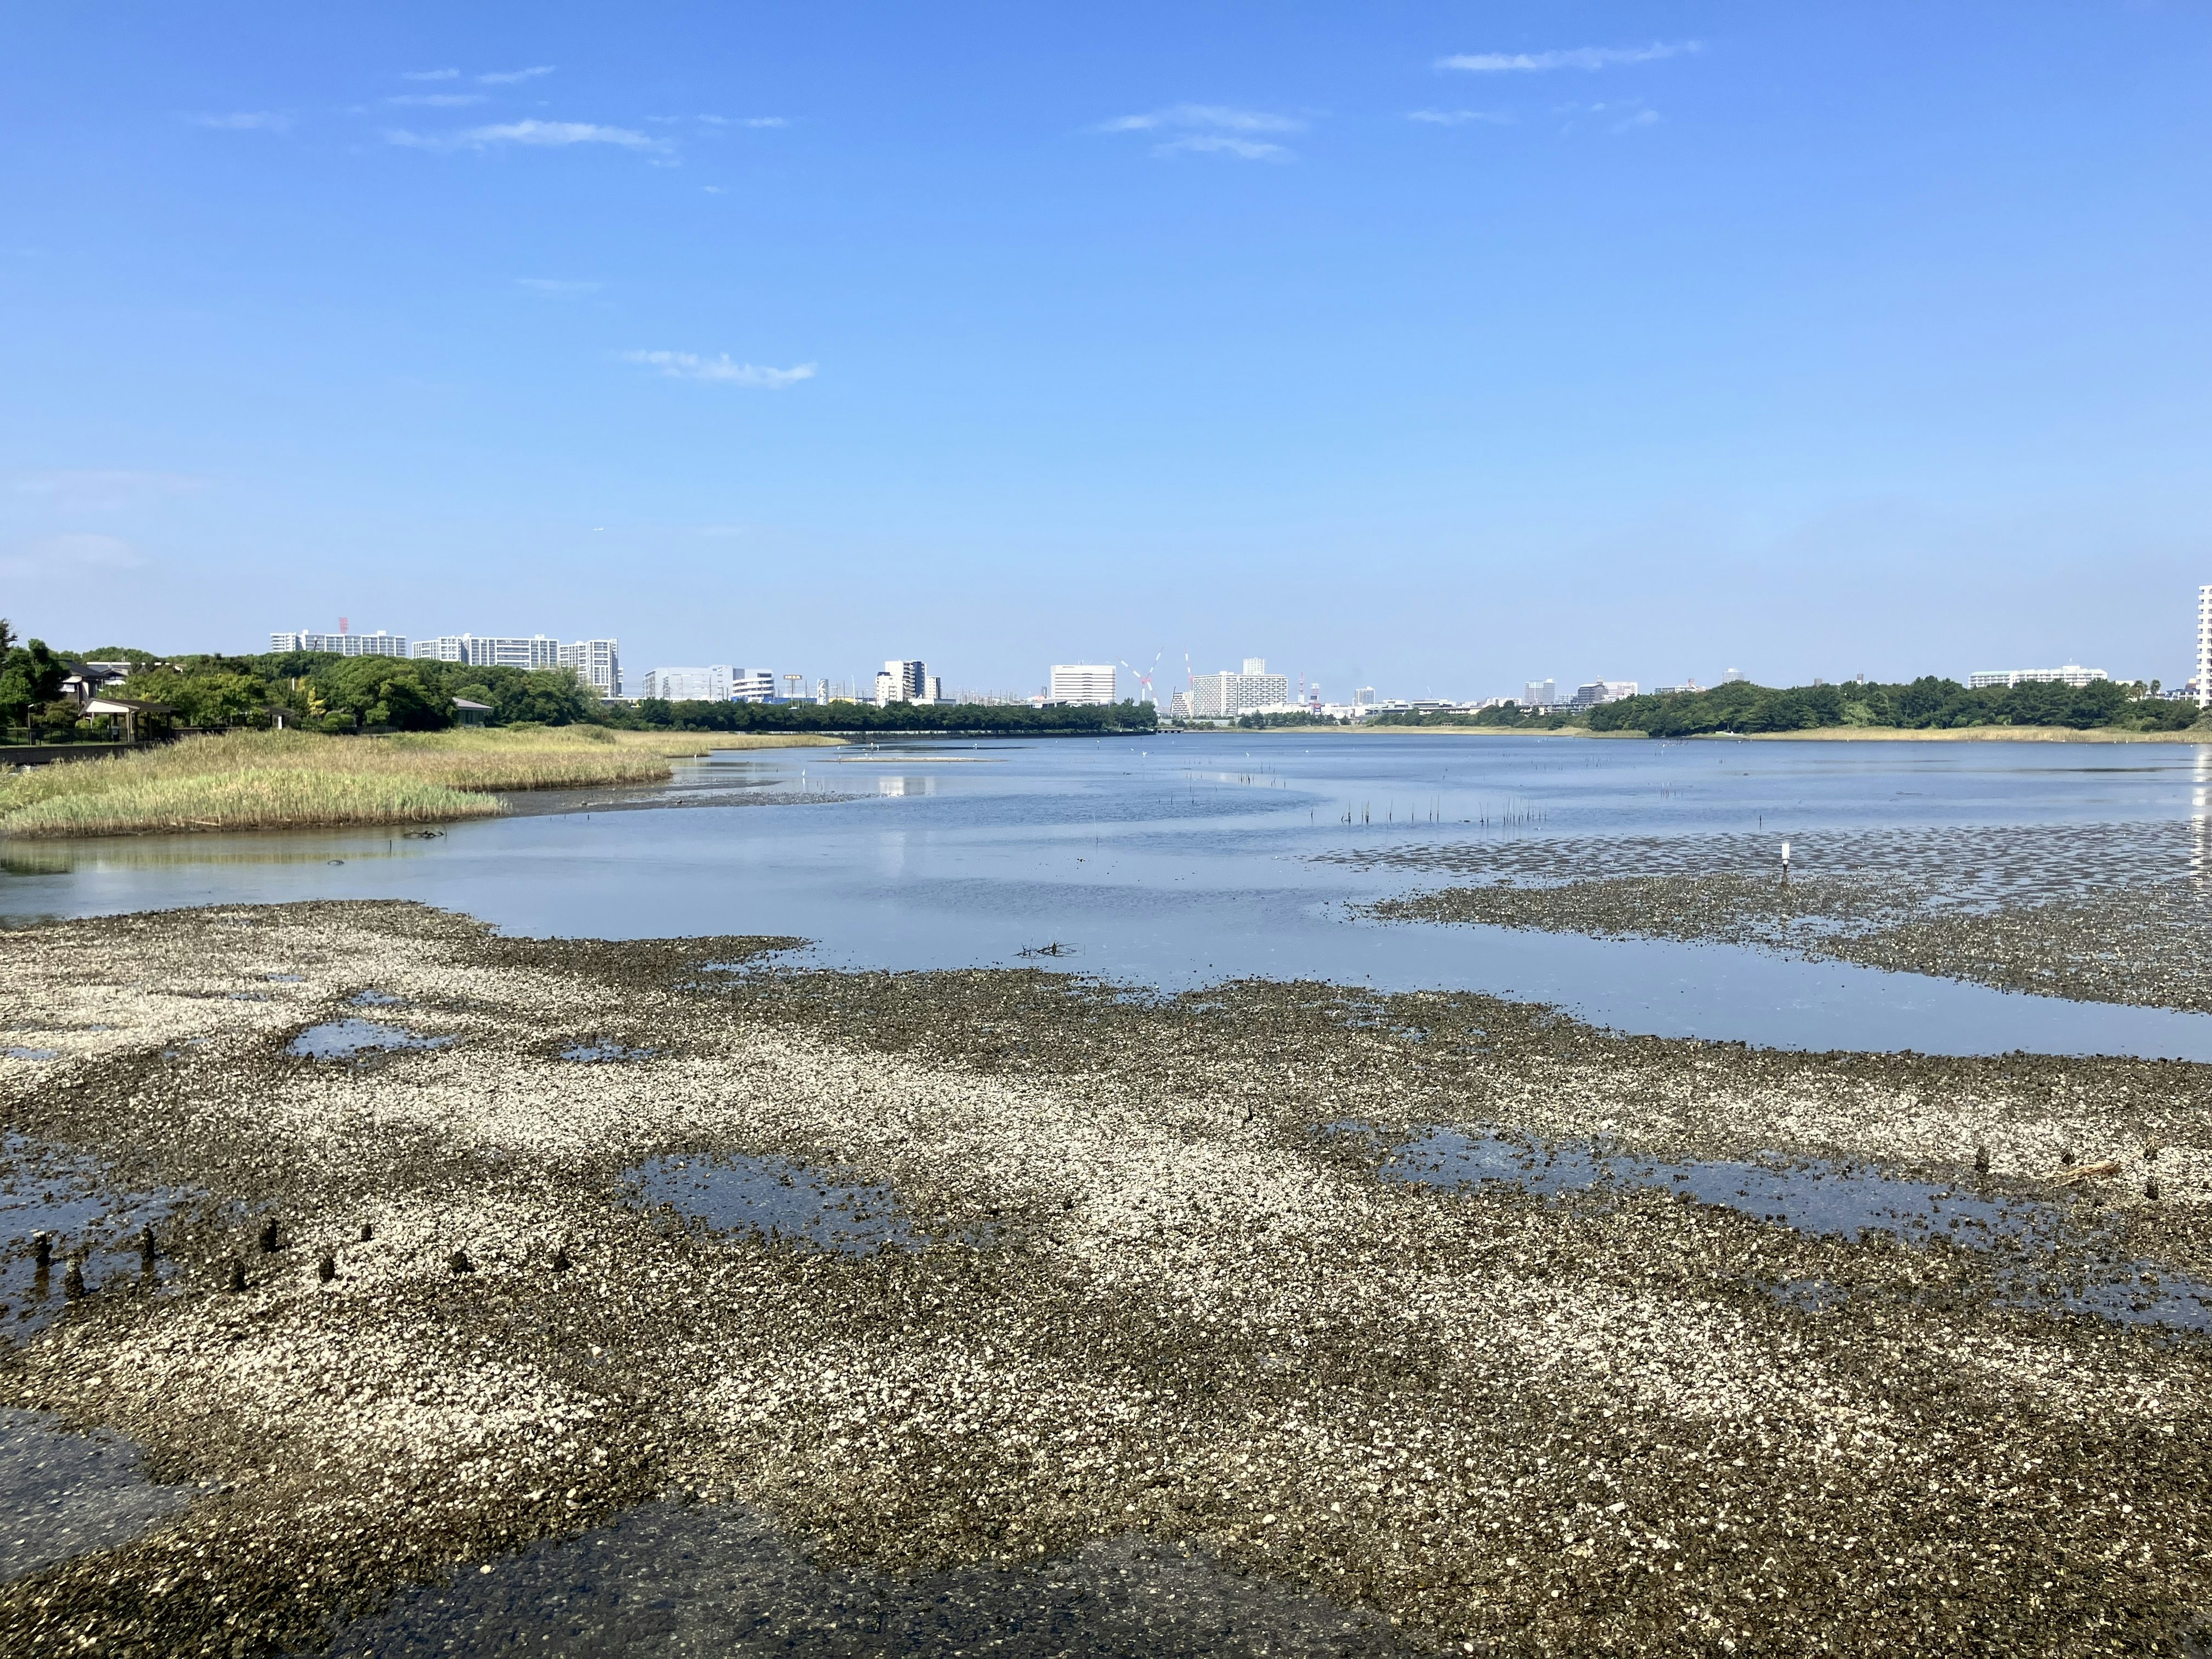
{"label": "dark green distant treeline on the right-hand far shore", "polygon": [[2088,686],[1993,686],[1969,690],[1955,679],[1922,675],[1893,686],[1754,686],[1747,679],[1699,692],[1652,692],[1566,714],[1537,714],[1504,703],[1478,714],[1380,714],[1391,726],[1506,726],[1648,737],[1703,732],[1809,732],[1832,726],[1947,730],[1960,726],[2070,726],[2075,730],[2179,732],[2197,723],[2194,701],[2152,697],[2146,686],[2097,679]]}

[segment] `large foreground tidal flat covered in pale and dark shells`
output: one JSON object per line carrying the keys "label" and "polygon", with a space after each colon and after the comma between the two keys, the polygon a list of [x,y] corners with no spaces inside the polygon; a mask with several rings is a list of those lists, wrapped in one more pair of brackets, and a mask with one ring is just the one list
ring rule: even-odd
{"label": "large foreground tidal flat covered in pale and dark shells", "polygon": [[[66,1148],[181,1197],[168,1276],[18,1327],[0,1405],[128,1436],[190,1502],[0,1586],[0,1650],[414,1652],[376,1619],[681,1513],[783,1586],[701,1652],[936,1650],[909,1604],[832,1646],[799,1559],[876,1606],[938,1575],[989,1615],[962,1641],[1022,1652],[1172,1648],[1141,1608],[1024,1648],[1026,1590],[978,1588],[1133,1562],[1274,1608],[1252,1652],[2141,1652],[2212,1610],[2212,1347],[2020,1294],[2212,1279],[2203,1066],[779,945],[398,902],[9,933],[0,1044],[51,1055],[0,1055],[11,1177]],[[341,1020],[418,1042],[294,1053]],[[1380,1179],[1433,1126],[1878,1164],[2068,1225],[1918,1248]],[[907,1243],[686,1223],[637,1201],[666,1157],[889,1188]]]}

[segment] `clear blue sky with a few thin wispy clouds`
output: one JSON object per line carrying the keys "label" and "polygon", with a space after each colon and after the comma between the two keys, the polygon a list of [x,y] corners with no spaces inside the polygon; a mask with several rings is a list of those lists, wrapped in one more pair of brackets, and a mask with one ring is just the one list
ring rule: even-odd
{"label": "clear blue sky with a few thin wispy clouds", "polygon": [[15,7],[0,613],[2179,681],[2205,4]]}

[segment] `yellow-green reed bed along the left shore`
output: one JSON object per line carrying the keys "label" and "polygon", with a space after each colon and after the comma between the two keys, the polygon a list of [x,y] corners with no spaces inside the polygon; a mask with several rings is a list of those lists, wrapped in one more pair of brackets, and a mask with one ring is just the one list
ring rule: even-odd
{"label": "yellow-green reed bed along the left shore", "polygon": [[[792,741],[792,739],[785,739]],[[799,739],[807,741],[807,739]],[[0,776],[0,836],[296,830],[482,818],[502,790],[586,790],[670,776],[695,737],[597,726],[321,737],[226,732]]]}

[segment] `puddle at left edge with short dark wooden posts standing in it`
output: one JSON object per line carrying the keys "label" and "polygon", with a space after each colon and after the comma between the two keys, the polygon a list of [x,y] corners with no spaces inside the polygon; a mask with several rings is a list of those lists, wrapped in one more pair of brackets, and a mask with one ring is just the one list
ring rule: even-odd
{"label": "puddle at left edge with short dark wooden posts standing in it", "polygon": [[[186,1192],[119,1192],[88,1157],[22,1135],[0,1137],[0,1332],[22,1338],[62,1312],[69,1263],[80,1250],[86,1294],[119,1283],[159,1287],[175,1272],[161,1252],[161,1230],[188,1201]],[[150,1263],[146,1228],[155,1230]],[[40,1234],[49,1245],[46,1267],[38,1265]]]}

